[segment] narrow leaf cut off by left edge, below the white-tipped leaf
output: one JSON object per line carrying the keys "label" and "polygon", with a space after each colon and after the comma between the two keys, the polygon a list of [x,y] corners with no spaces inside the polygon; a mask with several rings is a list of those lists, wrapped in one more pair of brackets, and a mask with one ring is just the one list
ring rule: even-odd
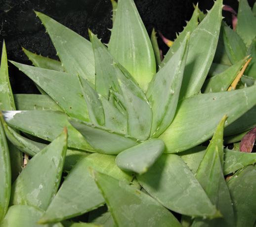
{"label": "narrow leaf cut off by left edge, below the white-tipped leaf", "polygon": [[8,144],[2,123],[0,122],[0,221],[3,219],[9,204],[11,193],[11,163]]}

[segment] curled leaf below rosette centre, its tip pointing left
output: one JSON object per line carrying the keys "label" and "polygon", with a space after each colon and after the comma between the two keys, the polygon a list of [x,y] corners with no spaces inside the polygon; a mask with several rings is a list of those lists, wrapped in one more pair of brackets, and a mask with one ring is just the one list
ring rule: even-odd
{"label": "curled leaf below rosette centre, its tip pointing left", "polygon": [[69,122],[85,137],[95,151],[100,153],[118,154],[140,142],[131,136],[76,118],[69,118]]}

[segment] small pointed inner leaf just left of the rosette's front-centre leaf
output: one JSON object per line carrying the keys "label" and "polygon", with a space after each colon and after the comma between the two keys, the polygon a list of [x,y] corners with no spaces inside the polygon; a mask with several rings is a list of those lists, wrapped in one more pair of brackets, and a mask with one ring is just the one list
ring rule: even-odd
{"label": "small pointed inner leaf just left of the rosette's front-centre leaf", "polygon": [[104,110],[105,127],[122,134],[127,134],[127,116],[122,114],[104,96],[100,96]]}

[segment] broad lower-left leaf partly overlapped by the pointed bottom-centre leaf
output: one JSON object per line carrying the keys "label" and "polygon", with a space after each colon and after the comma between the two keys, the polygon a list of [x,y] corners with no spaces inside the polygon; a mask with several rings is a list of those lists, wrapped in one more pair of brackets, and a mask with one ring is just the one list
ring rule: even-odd
{"label": "broad lower-left leaf partly overlapped by the pointed bottom-centre leaf", "polygon": [[132,179],[131,175],[117,167],[114,155],[90,154],[81,159],[69,172],[40,223],[56,222],[76,217],[105,203],[92,179],[90,168],[125,181],[127,184]]}

